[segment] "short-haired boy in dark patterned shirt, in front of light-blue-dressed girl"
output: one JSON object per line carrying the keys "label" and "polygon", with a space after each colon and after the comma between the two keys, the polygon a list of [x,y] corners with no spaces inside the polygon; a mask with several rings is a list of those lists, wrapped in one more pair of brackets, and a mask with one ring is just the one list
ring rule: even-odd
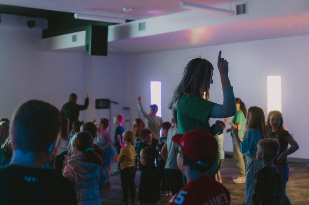
{"label": "short-haired boy in dark patterned shirt, in front of light-blue-dressed girl", "polygon": [[263,162],[263,168],[255,175],[252,205],[280,205],[282,183],[279,171],[273,164],[278,155],[279,142],[276,139],[261,139],[257,144],[256,159]]}

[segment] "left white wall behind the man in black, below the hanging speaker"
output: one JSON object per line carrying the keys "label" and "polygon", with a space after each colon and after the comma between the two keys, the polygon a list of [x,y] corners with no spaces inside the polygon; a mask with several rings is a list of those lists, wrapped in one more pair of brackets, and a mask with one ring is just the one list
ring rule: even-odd
{"label": "left white wall behind the man in black, below the hanging speaker", "polygon": [[43,51],[42,28],[46,21],[36,19],[37,26],[31,29],[26,22],[26,17],[2,15],[0,118],[11,119],[16,107],[30,99],[50,102],[60,110],[73,92],[78,95],[78,104],[84,103],[86,93],[90,96],[90,105],[80,112],[79,120],[108,118],[108,110],[95,110],[95,98],[110,98],[120,103],[112,105],[112,116],[122,112],[127,94],[123,89],[126,87],[125,56]]}

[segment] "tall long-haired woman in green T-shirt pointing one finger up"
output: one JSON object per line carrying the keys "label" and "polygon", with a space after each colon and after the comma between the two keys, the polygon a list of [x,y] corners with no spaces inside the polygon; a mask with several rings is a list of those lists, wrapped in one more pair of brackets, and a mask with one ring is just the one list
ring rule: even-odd
{"label": "tall long-haired woman in green T-shirt pointing one finger up", "polygon": [[[221,50],[217,66],[223,90],[222,105],[209,101],[210,84],[213,83],[213,65],[201,58],[194,58],[188,62],[168,105],[170,110],[177,110],[179,134],[194,129],[202,129],[213,136],[221,134],[222,124],[217,123],[210,127],[209,118],[227,118],[236,114],[233,87],[228,77],[228,62],[221,58]],[[208,171],[213,179],[218,172],[217,166],[218,159]]]}

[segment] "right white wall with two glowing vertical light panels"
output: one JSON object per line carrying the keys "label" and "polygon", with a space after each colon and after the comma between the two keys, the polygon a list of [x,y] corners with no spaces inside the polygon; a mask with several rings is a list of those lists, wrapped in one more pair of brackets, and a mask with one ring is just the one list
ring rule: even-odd
{"label": "right white wall with two glowing vertical light panels", "polygon": [[[210,100],[221,104],[223,94],[216,68],[219,50],[222,50],[222,57],[229,61],[229,76],[235,96],[245,102],[247,109],[258,106],[266,115],[267,76],[281,75],[284,122],[300,146],[300,149],[290,156],[308,159],[309,143],[304,122],[309,116],[309,35],[129,55],[128,100],[133,107],[132,113],[137,116],[138,94],[142,95],[144,107],[150,104],[150,81],[158,80],[162,82],[163,121],[170,121],[171,111],[167,109],[167,103],[189,58],[194,55],[201,55],[214,65],[214,84],[210,89]],[[215,120],[210,121],[214,123]],[[225,133],[226,151],[232,151],[231,142],[230,135]]]}

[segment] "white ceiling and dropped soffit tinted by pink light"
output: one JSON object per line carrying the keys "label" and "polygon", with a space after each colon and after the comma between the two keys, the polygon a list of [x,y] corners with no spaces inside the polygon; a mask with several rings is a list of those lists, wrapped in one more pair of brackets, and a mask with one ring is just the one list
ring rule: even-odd
{"label": "white ceiling and dropped soffit tinted by pink light", "polygon": [[[180,8],[180,0],[0,0],[0,4],[137,20],[110,26],[118,32],[114,36],[121,38],[112,36],[108,41],[109,53],[131,54],[309,34],[309,0],[186,1],[234,10],[236,4],[248,2],[248,14],[194,13]],[[126,13],[124,7],[132,11]],[[145,18],[152,30],[144,34],[132,30],[134,23]],[[83,48],[66,51],[83,52]]]}

